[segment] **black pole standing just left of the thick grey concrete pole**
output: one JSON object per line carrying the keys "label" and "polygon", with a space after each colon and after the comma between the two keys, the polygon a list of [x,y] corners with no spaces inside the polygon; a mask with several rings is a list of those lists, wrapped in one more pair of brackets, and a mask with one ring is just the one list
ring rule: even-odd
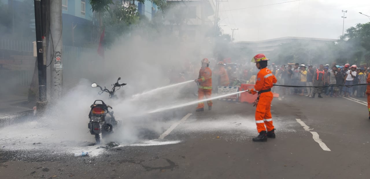
{"label": "black pole standing just left of the thick grey concrete pole", "polygon": [[36,103],[37,111],[39,114],[44,113],[44,109],[47,104],[46,100],[46,62],[44,62],[44,51],[43,39],[45,39],[43,34],[43,23],[42,12],[41,12],[41,1],[34,0],[35,8],[35,31],[36,31],[36,50],[37,50],[37,69],[38,69],[38,91],[39,98]]}

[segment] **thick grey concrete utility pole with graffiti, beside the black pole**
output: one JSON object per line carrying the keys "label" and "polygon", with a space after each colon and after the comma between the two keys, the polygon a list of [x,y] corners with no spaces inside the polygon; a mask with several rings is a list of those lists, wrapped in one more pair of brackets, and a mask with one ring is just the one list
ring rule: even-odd
{"label": "thick grey concrete utility pole with graffiti, beside the black pole", "polygon": [[50,35],[51,47],[51,101],[55,102],[62,96],[63,66],[62,66],[62,0],[50,1]]}

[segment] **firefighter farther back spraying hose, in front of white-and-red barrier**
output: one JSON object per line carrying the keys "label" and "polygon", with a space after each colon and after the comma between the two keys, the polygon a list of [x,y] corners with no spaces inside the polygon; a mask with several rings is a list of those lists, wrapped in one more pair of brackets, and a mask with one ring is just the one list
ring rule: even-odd
{"label": "firefighter farther back spraying hose, in front of white-and-red barrier", "polygon": [[[212,94],[212,70],[208,67],[209,60],[204,58],[202,59],[202,67],[199,70],[199,77],[198,79],[194,80],[198,83],[198,99],[202,100],[204,96],[206,99],[211,97]],[[212,109],[212,101],[207,101],[208,110]],[[198,103],[198,107],[196,108],[196,112],[204,111],[204,103]]]}

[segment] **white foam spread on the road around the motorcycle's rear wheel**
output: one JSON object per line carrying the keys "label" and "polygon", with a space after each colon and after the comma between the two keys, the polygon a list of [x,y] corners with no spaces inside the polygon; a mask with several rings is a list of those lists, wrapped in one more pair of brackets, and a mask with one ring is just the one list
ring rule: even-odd
{"label": "white foam spread on the road around the motorcycle's rear wheel", "polygon": [[[27,155],[34,156],[40,153],[47,155],[73,155],[78,152],[89,152],[89,156],[98,156],[107,152],[104,147],[110,141],[103,141],[103,144],[93,145],[95,139],[88,130],[84,129],[76,133],[70,130],[47,128],[41,121],[10,125],[0,130],[0,149],[7,151],[28,151]],[[73,134],[67,135],[71,132]],[[122,141],[118,143],[121,146],[151,146],[178,144],[180,142],[179,140],[143,140]],[[30,151],[37,152],[32,154],[33,152]],[[20,152],[19,155],[25,154]]]}

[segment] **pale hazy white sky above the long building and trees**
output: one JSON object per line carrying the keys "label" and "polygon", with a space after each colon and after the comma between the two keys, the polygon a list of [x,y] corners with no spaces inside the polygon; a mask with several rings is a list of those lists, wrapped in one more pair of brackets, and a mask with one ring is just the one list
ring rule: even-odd
{"label": "pale hazy white sky above the long building and trees", "polygon": [[[226,1],[226,0],[224,0]],[[370,0],[228,0],[220,4],[220,25],[224,33],[232,34],[235,41],[258,41],[279,37],[314,37],[337,39],[342,35],[342,10],[347,10],[344,31],[357,23],[367,23]],[[236,8],[254,7],[242,10]]]}

